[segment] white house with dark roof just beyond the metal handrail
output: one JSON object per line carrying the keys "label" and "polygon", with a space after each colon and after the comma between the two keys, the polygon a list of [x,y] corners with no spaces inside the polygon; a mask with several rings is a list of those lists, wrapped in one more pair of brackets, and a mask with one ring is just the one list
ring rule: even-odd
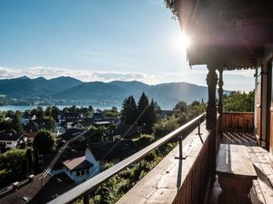
{"label": "white house with dark roof just beyond the metal handrail", "polygon": [[85,152],[76,151],[74,155],[61,157],[51,174],[66,173],[71,180],[81,183],[100,173],[107,161],[117,163],[136,151],[136,144],[132,140],[93,143]]}

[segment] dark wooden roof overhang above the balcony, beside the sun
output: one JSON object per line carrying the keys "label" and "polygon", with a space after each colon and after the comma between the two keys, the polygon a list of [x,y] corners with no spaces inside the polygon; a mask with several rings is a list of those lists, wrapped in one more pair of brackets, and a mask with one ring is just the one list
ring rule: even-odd
{"label": "dark wooden roof overhang above the balcony, beside the sun", "polygon": [[176,0],[181,28],[191,38],[190,65],[254,68],[273,44],[273,1]]}

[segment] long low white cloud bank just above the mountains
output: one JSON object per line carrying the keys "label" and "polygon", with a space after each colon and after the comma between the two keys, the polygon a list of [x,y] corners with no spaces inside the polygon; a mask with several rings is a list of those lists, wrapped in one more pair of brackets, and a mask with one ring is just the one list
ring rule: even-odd
{"label": "long low white cloud bank just above the mountains", "polygon": [[84,82],[111,82],[115,80],[120,81],[139,81],[143,83],[154,84],[157,79],[154,75],[146,73],[131,73],[131,72],[92,72],[83,69],[66,69],[57,67],[27,67],[27,68],[6,68],[0,67],[0,79],[16,78],[20,76],[27,76],[29,78],[36,78],[43,76],[46,79],[52,79],[59,76],[70,76]]}

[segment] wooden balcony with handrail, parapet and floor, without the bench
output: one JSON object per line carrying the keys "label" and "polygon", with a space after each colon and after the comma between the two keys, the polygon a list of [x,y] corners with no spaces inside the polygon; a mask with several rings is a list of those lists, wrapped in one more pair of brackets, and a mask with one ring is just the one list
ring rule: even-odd
{"label": "wooden balcony with handrail, parapet and floor, without the bench", "polygon": [[[254,114],[223,112],[217,116],[217,125],[210,131],[206,129],[203,118],[204,115],[197,117],[50,203],[69,203],[80,198],[88,203],[88,192],[91,189],[177,136],[182,136],[182,149],[177,145],[117,204],[132,203],[132,200],[134,203],[217,203],[222,190],[215,175],[219,143],[247,147],[249,158],[258,174],[258,180],[253,181],[253,188],[250,190],[250,199],[252,203],[272,203],[273,170],[269,165],[268,151],[259,147],[254,137]],[[181,151],[187,155],[184,160],[178,158]]]}

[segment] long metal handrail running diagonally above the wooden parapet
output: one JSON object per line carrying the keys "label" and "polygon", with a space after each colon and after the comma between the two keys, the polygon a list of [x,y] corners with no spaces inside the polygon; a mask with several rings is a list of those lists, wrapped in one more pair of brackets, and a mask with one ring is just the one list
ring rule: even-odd
{"label": "long metal handrail running diagonally above the wooden parapet", "polygon": [[[48,204],[70,203],[80,198],[84,199],[84,203],[89,203],[89,192],[92,189],[95,189],[101,183],[110,179],[112,176],[116,175],[116,173],[120,172],[121,170],[126,169],[126,167],[130,166],[136,161],[141,160],[142,158],[147,156],[147,154],[150,153],[151,151],[154,151],[158,147],[166,144],[167,141],[170,141],[171,139],[174,139],[177,136],[181,136],[182,134],[186,134],[185,132],[191,130],[192,128],[197,127],[197,125],[200,125],[200,123],[204,121],[205,115],[206,113],[203,113],[197,116],[197,118],[191,121],[188,121],[185,125],[182,125],[177,130],[170,132],[163,138],[159,139],[158,141],[155,141],[154,143],[150,144],[149,146],[142,149],[141,151],[137,151],[132,156],[118,162],[116,165],[112,166],[111,168],[105,171],[102,171],[101,173],[97,174],[90,180],[86,180],[85,182],[77,185],[74,189],[70,189],[66,191],[66,193],[60,195],[56,199],[52,199],[51,201],[48,202]],[[183,137],[179,137],[179,139],[183,140]],[[182,142],[179,142],[179,143],[182,145]]]}

